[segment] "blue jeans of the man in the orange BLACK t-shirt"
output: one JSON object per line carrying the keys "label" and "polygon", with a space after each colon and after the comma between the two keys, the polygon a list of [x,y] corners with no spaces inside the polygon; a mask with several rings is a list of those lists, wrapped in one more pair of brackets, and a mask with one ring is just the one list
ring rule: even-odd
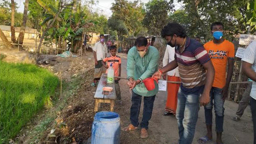
{"label": "blue jeans of the man in the orange BLACK t-shirt", "polygon": [[212,109],[214,106],[216,132],[223,132],[223,120],[224,120],[224,100],[222,100],[222,89],[212,87],[210,91],[210,103],[204,107],[205,123],[206,125],[213,124]]}

